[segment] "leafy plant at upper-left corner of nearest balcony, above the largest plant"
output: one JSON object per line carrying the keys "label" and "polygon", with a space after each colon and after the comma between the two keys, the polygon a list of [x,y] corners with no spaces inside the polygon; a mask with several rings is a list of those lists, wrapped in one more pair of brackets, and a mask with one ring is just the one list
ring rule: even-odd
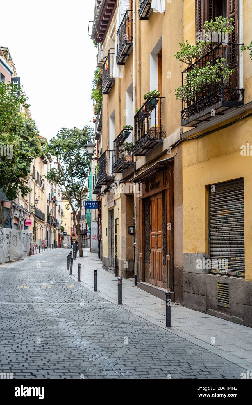
{"label": "leafy plant at upper-left corner of nearest balcony, above the largest plant", "polygon": [[195,59],[202,58],[210,48],[210,42],[199,41],[196,45],[190,45],[189,41],[186,43],[179,43],[180,51],[176,52],[174,58],[183,63],[191,65]]}

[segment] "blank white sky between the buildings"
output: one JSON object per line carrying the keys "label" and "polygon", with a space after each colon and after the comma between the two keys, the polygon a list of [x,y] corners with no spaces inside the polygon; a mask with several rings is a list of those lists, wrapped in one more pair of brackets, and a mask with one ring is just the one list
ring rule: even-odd
{"label": "blank white sky between the buildings", "polygon": [[[97,51],[88,36],[94,0],[12,0],[0,23],[40,134],[91,125]],[[90,23],[90,31],[91,31]]]}

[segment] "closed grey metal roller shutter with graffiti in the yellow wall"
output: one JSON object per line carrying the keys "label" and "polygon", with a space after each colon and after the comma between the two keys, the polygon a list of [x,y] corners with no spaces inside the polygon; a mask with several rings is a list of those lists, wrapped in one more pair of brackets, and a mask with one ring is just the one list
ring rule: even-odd
{"label": "closed grey metal roller shutter with graffiti in the yellow wall", "polygon": [[[243,179],[218,183],[214,187],[215,191],[210,186],[209,193],[209,237],[212,264],[210,272],[244,277]],[[220,260],[225,259],[227,259],[228,266],[223,269],[223,266],[220,266]]]}

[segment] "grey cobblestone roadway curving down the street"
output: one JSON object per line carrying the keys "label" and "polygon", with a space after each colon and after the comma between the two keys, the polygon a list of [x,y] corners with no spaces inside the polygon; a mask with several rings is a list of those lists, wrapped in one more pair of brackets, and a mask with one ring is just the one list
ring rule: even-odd
{"label": "grey cobblestone roadway curving down the street", "polygon": [[246,371],[71,279],[67,253],[54,249],[0,266],[2,373],[239,379]]}

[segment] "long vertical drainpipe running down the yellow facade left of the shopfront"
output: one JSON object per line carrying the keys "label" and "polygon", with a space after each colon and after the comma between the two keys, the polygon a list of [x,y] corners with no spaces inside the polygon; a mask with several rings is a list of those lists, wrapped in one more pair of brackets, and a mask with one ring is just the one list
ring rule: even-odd
{"label": "long vertical drainpipe running down the yellow facade left of the shopfront", "polygon": [[[136,111],[136,0],[133,0],[133,117]],[[133,118],[134,119],[134,118]],[[134,128],[134,123],[133,123]],[[134,156],[134,175],[136,168],[136,157]],[[134,186],[135,187],[135,186]],[[134,277],[137,277],[137,254],[136,254],[136,192],[134,192]]]}

